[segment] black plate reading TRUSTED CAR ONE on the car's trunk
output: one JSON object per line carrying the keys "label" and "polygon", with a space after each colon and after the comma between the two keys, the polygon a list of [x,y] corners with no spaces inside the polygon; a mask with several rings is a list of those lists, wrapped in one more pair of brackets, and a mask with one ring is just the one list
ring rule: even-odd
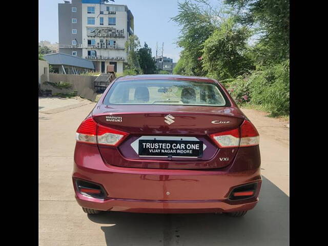
{"label": "black plate reading TRUSTED CAR ONE on the car's trunk", "polygon": [[201,157],[202,141],[139,139],[139,156]]}

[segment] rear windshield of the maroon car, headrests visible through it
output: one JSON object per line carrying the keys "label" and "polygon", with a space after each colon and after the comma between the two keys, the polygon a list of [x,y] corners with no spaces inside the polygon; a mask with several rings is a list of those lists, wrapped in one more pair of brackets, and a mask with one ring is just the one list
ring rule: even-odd
{"label": "rear windshield of the maroon car, headrests visible through it", "polygon": [[181,80],[116,81],[107,93],[106,105],[227,106],[215,84]]}

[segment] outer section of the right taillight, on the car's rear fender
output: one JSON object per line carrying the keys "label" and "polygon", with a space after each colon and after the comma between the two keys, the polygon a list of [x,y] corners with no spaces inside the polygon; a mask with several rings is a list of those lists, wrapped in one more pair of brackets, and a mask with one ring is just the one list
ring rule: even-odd
{"label": "outer section of the right taillight, on the car's rear fender", "polygon": [[260,136],[254,127],[254,125],[244,120],[240,126],[240,147],[248,147],[258,145],[260,142]]}

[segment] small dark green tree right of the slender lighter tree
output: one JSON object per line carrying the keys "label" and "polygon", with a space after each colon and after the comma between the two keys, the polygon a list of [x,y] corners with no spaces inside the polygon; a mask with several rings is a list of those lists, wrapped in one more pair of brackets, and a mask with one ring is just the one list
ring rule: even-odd
{"label": "small dark green tree right of the slender lighter tree", "polygon": [[146,42],[144,47],[138,50],[137,55],[142,73],[154,74],[156,72],[156,61],[152,57],[152,49],[148,47]]}

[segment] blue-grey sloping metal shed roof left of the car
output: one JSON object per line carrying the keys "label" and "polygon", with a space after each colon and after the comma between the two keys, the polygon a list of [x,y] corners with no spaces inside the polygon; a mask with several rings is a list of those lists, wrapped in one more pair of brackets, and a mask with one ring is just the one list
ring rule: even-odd
{"label": "blue-grey sloping metal shed roof left of the car", "polygon": [[49,65],[68,65],[80,68],[94,69],[92,61],[73,55],[53,53],[44,55],[43,58],[48,61]]}

